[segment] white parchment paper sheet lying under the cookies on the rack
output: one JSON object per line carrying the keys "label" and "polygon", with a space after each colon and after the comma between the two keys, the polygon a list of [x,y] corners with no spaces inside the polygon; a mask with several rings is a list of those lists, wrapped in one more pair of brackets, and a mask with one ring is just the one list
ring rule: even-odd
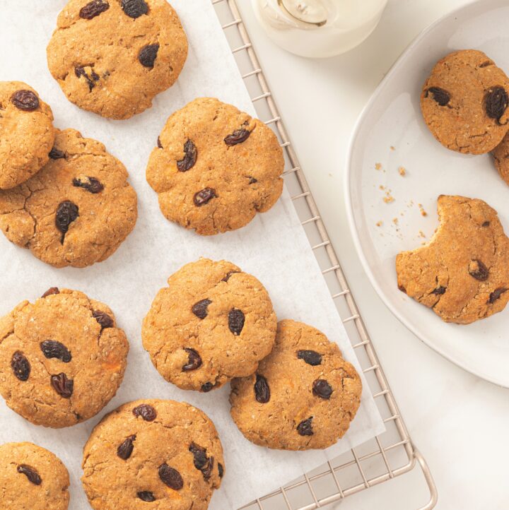
{"label": "white parchment paper sheet lying under the cookies on the rack", "polygon": [[212,510],[234,510],[275,490],[305,471],[383,431],[368,386],[344,439],[327,451],[283,452],[254,446],[230,419],[228,386],[211,393],[181,391],[159,376],[141,346],[141,321],[168,276],[199,256],[228,259],[264,283],[279,319],[305,321],[336,340],[347,360],[355,355],[310,250],[288,194],[247,227],[200,237],[163,218],[156,194],[145,180],[148,155],[168,116],[199,96],[219,97],[254,114],[235,61],[210,0],[173,0],[189,37],[189,59],[179,81],[156,97],[151,109],[128,121],[110,121],[66,100],[47,70],[45,49],[65,0],[0,0],[0,80],[32,85],[52,106],[55,125],[72,127],[105,143],[124,162],[139,198],[134,232],[110,259],[84,269],[56,269],[0,235],[0,314],[48,287],[68,287],[112,307],[131,344],[129,364],[117,396],[88,422],[68,429],[36,427],[0,402],[0,442],[33,441],[56,453],[71,475],[71,509],[89,508],[81,489],[81,452],[105,412],[136,398],[172,398],[203,409],[223,441],[226,476],[212,498]]}

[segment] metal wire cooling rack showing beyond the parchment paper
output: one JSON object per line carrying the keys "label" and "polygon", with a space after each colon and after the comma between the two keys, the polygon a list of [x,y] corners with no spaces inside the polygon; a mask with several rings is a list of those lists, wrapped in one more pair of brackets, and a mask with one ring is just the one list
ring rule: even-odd
{"label": "metal wire cooling rack showing beyond the parchment paper", "polygon": [[334,247],[329,240],[310,189],[300,169],[296,153],[288,140],[283,121],[269,90],[264,73],[250,42],[235,0],[211,0],[247,85],[260,119],[274,130],[285,152],[284,179],[310,241],[327,285],[343,320],[358,360],[363,367],[375,403],[387,427],[375,439],[351,449],[334,461],[306,473],[286,487],[259,497],[241,510],[315,510],[339,502],[392,478],[404,475],[419,465],[430,497],[420,510],[431,510],[437,490],[426,461],[411,441],[378,357],[365,329]]}

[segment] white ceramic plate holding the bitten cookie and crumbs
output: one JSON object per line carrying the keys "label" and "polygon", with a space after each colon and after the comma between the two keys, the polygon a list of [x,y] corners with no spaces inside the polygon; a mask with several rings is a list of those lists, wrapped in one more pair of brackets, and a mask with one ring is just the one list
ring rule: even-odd
{"label": "white ceramic plate holding the bitten cookie and crumbs", "polygon": [[[509,74],[508,26],[507,0],[480,0],[424,30],[361,114],[351,140],[345,188],[358,253],[387,307],[448,360],[506,387],[509,308],[468,326],[446,324],[398,290],[394,259],[433,235],[440,194],[481,198],[498,211],[509,234],[509,186],[498,177],[491,156],[462,155],[441,146],[424,124],[419,106],[421,87],[433,65],[455,49],[480,49]],[[406,170],[404,177],[399,167]],[[383,198],[388,196],[394,201],[386,203]]]}

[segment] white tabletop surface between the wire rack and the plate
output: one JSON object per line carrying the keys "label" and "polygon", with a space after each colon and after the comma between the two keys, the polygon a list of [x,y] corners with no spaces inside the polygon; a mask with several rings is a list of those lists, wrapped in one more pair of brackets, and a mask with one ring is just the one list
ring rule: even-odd
{"label": "white tabletop surface between the wire rack and the plate", "polygon": [[[467,3],[390,0],[380,25],[361,46],[332,59],[310,60],[276,47],[257,24],[250,0],[238,0],[394,396],[433,472],[436,508],[507,510],[509,390],[447,362],[392,316],[357,260],[343,194],[351,129],[371,93],[426,25]],[[414,471],[338,507],[414,510],[428,501],[423,479]]]}

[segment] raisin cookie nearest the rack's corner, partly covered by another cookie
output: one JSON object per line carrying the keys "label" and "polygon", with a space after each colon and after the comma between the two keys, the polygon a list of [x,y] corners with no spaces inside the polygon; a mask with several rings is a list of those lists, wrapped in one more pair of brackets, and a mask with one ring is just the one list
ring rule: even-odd
{"label": "raisin cookie nearest the rack's corner, partly covered by another cookie", "polygon": [[255,374],[233,379],[233,420],[247,439],[279,450],[324,449],[349,429],[361,402],[356,369],[311,326],[278,324],[274,350]]}

